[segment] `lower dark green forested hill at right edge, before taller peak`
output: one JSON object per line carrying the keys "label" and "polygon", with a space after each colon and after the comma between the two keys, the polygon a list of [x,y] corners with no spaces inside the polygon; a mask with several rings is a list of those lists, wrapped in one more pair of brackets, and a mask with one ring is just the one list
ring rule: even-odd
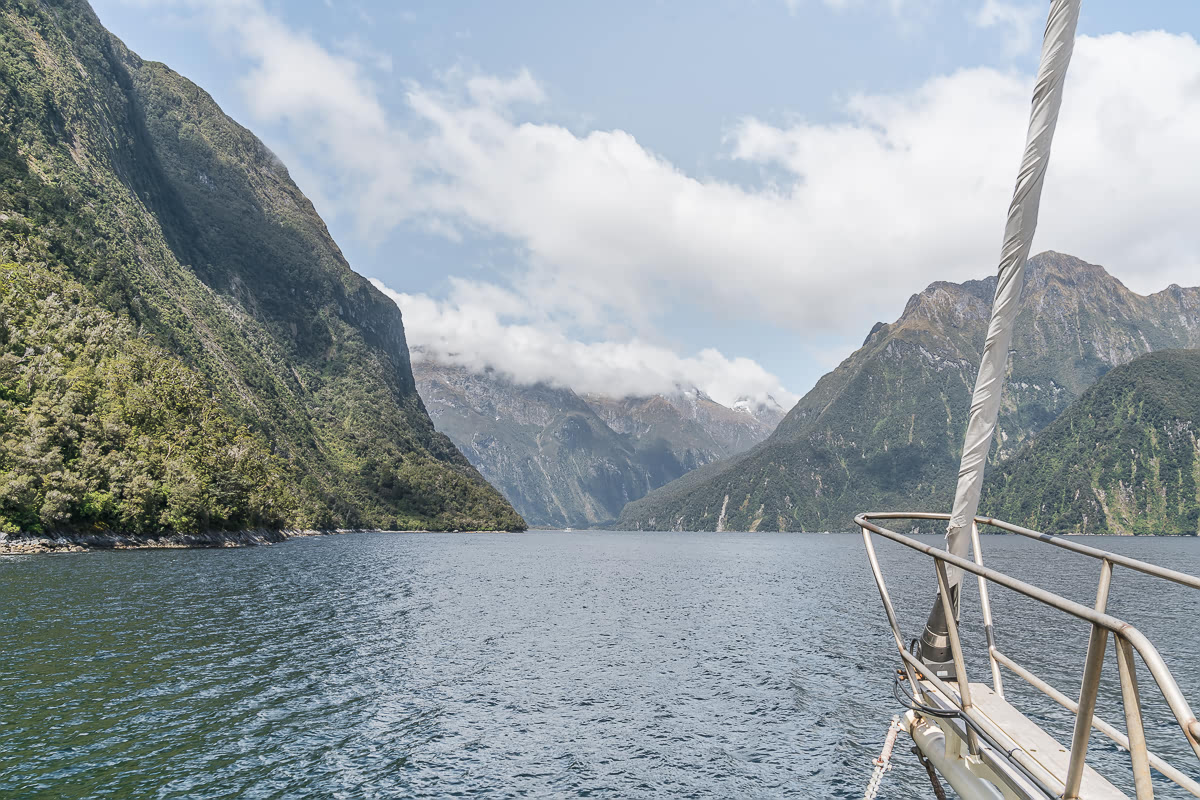
{"label": "lower dark green forested hill at right edge, before taller peak", "polygon": [[1056,534],[1200,534],[1200,350],[1100,378],[989,476],[982,507]]}

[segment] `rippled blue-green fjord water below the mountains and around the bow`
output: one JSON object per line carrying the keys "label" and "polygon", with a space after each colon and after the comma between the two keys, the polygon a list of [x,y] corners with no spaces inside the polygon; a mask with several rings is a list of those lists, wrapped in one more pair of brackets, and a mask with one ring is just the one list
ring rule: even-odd
{"label": "rippled blue-green fjord water below the mountains and around the bow", "polygon": [[[1086,541],[1200,572],[1195,539]],[[916,636],[932,571],[880,548]],[[1094,561],[1007,536],[984,552],[1094,600]],[[1118,569],[1110,610],[1200,704],[1195,594]],[[1001,648],[1076,692],[1086,630],[1002,590],[994,603]],[[893,646],[857,535],[358,534],[2,558],[0,796],[858,798],[899,710]],[[1120,721],[1111,667],[1100,714]],[[1067,740],[1066,716],[1015,684]],[[1200,771],[1170,733],[1152,727],[1152,748]],[[1122,753],[1092,746],[1123,775]],[[930,796],[907,748],[884,796]]]}

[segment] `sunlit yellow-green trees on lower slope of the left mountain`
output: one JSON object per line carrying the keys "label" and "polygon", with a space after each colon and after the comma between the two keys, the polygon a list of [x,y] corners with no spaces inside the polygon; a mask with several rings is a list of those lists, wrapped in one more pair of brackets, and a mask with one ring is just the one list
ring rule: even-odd
{"label": "sunlit yellow-green trees on lower slope of the left mountain", "polygon": [[277,528],[283,464],[179,359],[42,266],[0,265],[0,530]]}

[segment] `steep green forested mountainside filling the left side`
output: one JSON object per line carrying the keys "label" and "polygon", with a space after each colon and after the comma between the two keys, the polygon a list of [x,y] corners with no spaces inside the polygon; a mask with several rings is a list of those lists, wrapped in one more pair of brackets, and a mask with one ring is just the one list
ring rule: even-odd
{"label": "steep green forested mountainside filling the left side", "polygon": [[280,161],[83,0],[0,1],[0,528],[522,521]]}

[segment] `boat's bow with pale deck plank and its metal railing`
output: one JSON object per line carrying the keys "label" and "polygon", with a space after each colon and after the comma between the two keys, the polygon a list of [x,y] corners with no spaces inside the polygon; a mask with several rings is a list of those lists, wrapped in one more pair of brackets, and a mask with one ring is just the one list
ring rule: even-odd
{"label": "boat's bow with pale deck plank and its metal railing", "polygon": [[[854,522],[863,531],[863,543],[866,547],[866,557],[875,576],[876,588],[880,590],[880,599],[883,602],[883,610],[887,613],[888,624],[892,627],[892,636],[895,640],[896,652],[900,656],[902,674],[901,680],[916,682],[913,690],[917,692],[919,703],[928,703],[940,706],[941,710],[950,711],[942,714],[941,710],[912,708],[905,712],[906,728],[913,739],[918,736],[924,740],[924,745],[918,742],[922,752],[930,758],[934,766],[948,777],[950,783],[962,796],[971,798],[988,796],[996,800],[990,788],[982,786],[991,783],[991,787],[1001,787],[1003,795],[1009,800],[1014,798],[1061,798],[1068,793],[1064,783],[1069,783],[1069,794],[1074,798],[1108,798],[1126,796],[1108,780],[1092,769],[1086,769],[1085,760],[1090,741],[1094,738],[1093,732],[1100,733],[1111,740],[1122,751],[1129,753],[1129,782],[1127,790],[1136,790],[1139,800],[1148,800],[1154,796],[1154,778],[1152,770],[1164,778],[1171,781],[1184,792],[1200,798],[1200,781],[1188,775],[1178,766],[1171,764],[1159,754],[1151,752],[1146,746],[1144,706],[1141,690],[1139,688],[1138,663],[1144,664],[1144,674],[1150,680],[1144,685],[1153,687],[1154,708],[1158,722],[1156,726],[1165,726],[1178,730],[1180,744],[1187,744],[1196,757],[1200,757],[1200,720],[1192,710],[1187,698],[1180,690],[1178,682],[1171,674],[1162,654],[1154,644],[1146,638],[1130,622],[1112,616],[1106,613],[1109,590],[1112,584],[1114,570],[1120,567],[1123,571],[1138,572],[1142,576],[1158,578],[1160,581],[1187,587],[1200,591],[1200,577],[1169,570],[1147,561],[1097,549],[1076,541],[1051,534],[1043,534],[1031,528],[1022,528],[1001,519],[991,517],[976,517],[971,527],[971,549],[974,559],[955,555],[948,551],[940,549],[923,541],[898,534],[895,530],[877,524],[877,521],[940,521],[948,522],[950,515],[932,513],[924,511],[884,511],[875,513],[860,513],[854,517]],[[980,537],[979,528],[989,527],[1008,534],[1016,534],[1031,540],[1049,545],[1060,549],[1069,551],[1079,555],[1094,559],[1100,563],[1099,579],[1096,587],[1094,606],[1068,600],[1056,595],[1042,587],[1037,587],[998,570],[989,569],[982,564],[979,553]],[[902,545],[918,553],[934,559],[936,567],[938,597],[942,603],[946,620],[946,642],[937,644],[942,648],[948,643],[949,656],[955,664],[954,672],[959,675],[955,680],[942,680],[936,672],[929,669],[913,652],[910,651],[906,642],[912,639],[905,636],[898,621],[896,609],[892,603],[887,583],[880,566],[878,554],[875,551],[874,539],[889,540]],[[1046,732],[1042,730],[1034,721],[1027,718],[1020,711],[997,697],[995,691],[980,682],[965,684],[966,657],[962,652],[962,643],[959,638],[958,614],[953,609],[953,601],[949,589],[948,571],[950,567],[961,570],[964,573],[974,575],[979,582],[979,609],[986,640],[986,656],[990,666],[992,686],[1001,686],[1001,669],[1007,668],[1013,675],[1025,681],[1054,703],[1064,708],[1073,717],[1070,745],[1063,746],[1055,741]],[[1079,699],[1068,696],[1049,682],[1039,678],[1027,667],[1018,663],[1012,656],[1001,652],[996,646],[992,631],[991,604],[989,600],[989,587],[1001,587],[1008,591],[1040,603],[1043,609],[1052,609],[1074,616],[1079,622],[1086,624],[1090,628],[1087,642],[1087,655],[1085,657],[1079,682]],[[928,625],[926,625],[928,628]],[[1112,721],[1105,721],[1096,716],[1097,699],[1102,688],[1105,673],[1105,651],[1109,640],[1112,640],[1116,650],[1116,673],[1120,687],[1120,700],[1124,730]],[[924,640],[924,639],[923,639]],[[940,654],[941,656],[941,654]],[[946,663],[944,658],[938,658],[937,663]],[[949,670],[943,672],[943,676]],[[1111,668],[1110,670],[1111,672]],[[960,685],[959,680],[964,680]],[[961,687],[961,688],[960,688]],[[964,706],[959,698],[960,691],[970,687],[971,702]],[[1116,688],[1110,684],[1110,690]],[[905,693],[910,693],[905,690]],[[1112,692],[1109,691],[1109,694]],[[902,698],[901,698],[902,699]],[[1162,703],[1165,703],[1169,715],[1163,714]],[[1069,717],[1068,717],[1069,718]],[[1086,720],[1090,724],[1081,724]],[[930,724],[932,723],[932,724]],[[937,730],[935,730],[935,728]],[[970,745],[970,747],[967,747]],[[966,751],[973,752],[976,757],[970,757]],[[1186,752],[1186,751],[1183,751]],[[1094,753],[1093,753],[1093,762]],[[1114,768],[1120,768],[1122,758],[1115,762],[1108,759]],[[1078,771],[1072,769],[1078,768]],[[949,772],[949,774],[948,774]],[[989,777],[988,774],[991,772]],[[995,780],[992,780],[995,778]],[[959,787],[967,787],[966,790]]]}

